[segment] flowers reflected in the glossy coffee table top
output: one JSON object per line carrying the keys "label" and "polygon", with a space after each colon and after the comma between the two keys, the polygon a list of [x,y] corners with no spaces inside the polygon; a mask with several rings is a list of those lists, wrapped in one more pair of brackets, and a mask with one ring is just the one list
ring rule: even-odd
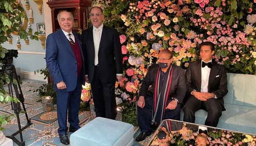
{"label": "flowers reflected in the glossy coffee table top", "polygon": [[[179,131],[170,133],[170,146],[196,146],[198,133],[183,126]],[[256,136],[231,131],[211,131],[208,133],[209,146],[256,146]],[[158,146],[157,137],[151,146]]]}

